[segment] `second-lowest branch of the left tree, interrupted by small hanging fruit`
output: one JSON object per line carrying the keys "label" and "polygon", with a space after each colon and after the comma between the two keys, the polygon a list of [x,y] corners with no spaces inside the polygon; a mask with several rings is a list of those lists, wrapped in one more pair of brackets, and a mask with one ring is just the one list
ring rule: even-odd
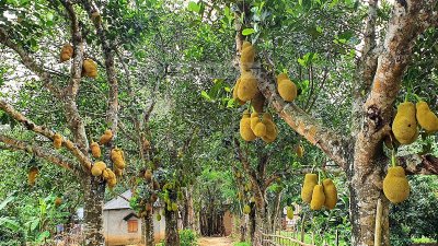
{"label": "second-lowest branch of the left tree, interrupted by small hanging fruit", "polygon": [[[0,109],[5,112],[21,125],[23,125],[27,130],[34,131],[50,140],[54,140],[55,132],[47,129],[46,127],[34,124],[32,120],[27,119],[24,115],[15,110],[10,104],[8,104],[2,99],[0,99]],[[71,142],[67,138],[64,138],[62,145],[66,147],[87,169],[91,169],[92,166],[91,161],[84,153],[82,153],[82,151],[73,142]]]}

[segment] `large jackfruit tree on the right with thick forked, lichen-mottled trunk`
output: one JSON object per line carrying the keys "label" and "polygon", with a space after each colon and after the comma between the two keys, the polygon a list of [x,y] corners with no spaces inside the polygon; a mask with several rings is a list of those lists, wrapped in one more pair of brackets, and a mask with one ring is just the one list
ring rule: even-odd
{"label": "large jackfruit tree on the right with thick forked, lichen-mottled trunk", "polygon": [[[297,15],[295,16],[298,16],[298,11],[303,9],[310,10],[318,5],[321,8],[325,5],[324,2],[309,2],[296,3],[295,8],[301,9],[296,10]],[[239,1],[234,20],[237,30],[235,45],[238,54],[242,55],[244,52],[242,44],[245,45],[245,42],[249,40],[251,40],[252,46],[256,47],[256,50],[264,49],[255,52],[255,60],[252,67],[247,68],[246,73],[257,81],[257,89],[266,98],[268,105],[278,113],[278,116],[292,130],[344,168],[349,180],[350,222],[353,225],[351,245],[390,245],[389,204],[390,200],[400,202],[408,195],[405,173],[411,175],[438,174],[438,159],[431,154],[430,150],[419,154],[411,153],[402,156],[397,155],[396,150],[389,151],[382,144],[383,139],[391,134],[391,130],[395,136],[393,145],[395,145],[395,140],[401,144],[414,142],[419,133],[417,131],[422,130],[417,127],[416,121],[420,121],[422,117],[416,117],[415,104],[410,102],[402,103],[399,106],[395,119],[393,118],[393,107],[397,96],[405,90],[407,91],[406,98],[414,97],[412,91],[415,89],[415,82],[408,81],[407,86],[402,87],[402,81],[410,80],[410,78],[403,78],[403,75],[410,73],[410,71],[406,71],[406,69],[410,69],[408,62],[416,56],[415,42],[429,33],[436,33],[437,2],[411,0],[395,1],[392,4],[388,4],[379,3],[379,1],[369,1],[365,5],[359,3],[359,5],[348,7],[346,4],[339,5],[339,8],[350,9],[351,11],[361,8],[367,13],[364,25],[351,22],[351,25],[357,24],[356,27],[361,28],[358,35],[362,36],[364,43],[359,46],[360,56],[357,56],[356,72],[350,77],[350,81],[345,83],[345,85],[351,86],[353,90],[349,95],[353,96],[353,101],[347,131],[333,129],[332,126],[322,124],[313,115],[309,115],[306,112],[309,101],[303,105],[304,108],[301,108],[299,106],[300,103],[296,102],[297,99],[295,98],[295,84],[289,82],[284,84],[281,82],[287,80],[286,77],[281,75],[280,79],[277,79],[278,82],[276,81],[277,74],[289,70],[289,67],[285,66],[286,62],[281,60],[280,55],[280,50],[286,48],[277,46],[279,44],[285,45],[288,36],[285,33],[283,33],[285,38],[276,35],[280,32],[286,32],[281,30],[283,24],[293,25],[295,23],[278,19],[276,14],[280,15],[285,9],[291,13],[293,8],[278,2],[270,5],[261,5],[257,2],[251,4]],[[387,11],[388,19],[380,20],[379,11]],[[264,12],[267,15],[263,15]],[[265,19],[262,20],[263,17],[260,19],[260,16]],[[345,16],[348,17],[346,14]],[[384,26],[384,32],[378,31],[382,26]],[[313,28],[315,30],[310,33],[310,37],[318,39],[318,37],[325,35],[323,30],[330,27],[324,23],[318,23],[316,27]],[[290,43],[290,45],[292,46],[291,50],[300,49],[299,46],[293,47],[293,43]],[[322,51],[326,54],[328,59],[331,59],[332,55],[336,56],[335,49],[328,48],[324,50],[323,48]],[[316,60],[315,54],[298,58],[299,66],[311,68],[312,59]],[[295,65],[290,67],[297,68]],[[240,65],[240,68],[242,68],[242,65]],[[289,70],[288,72],[295,73],[298,78],[302,74],[301,68],[298,71]],[[434,72],[431,71],[431,73]],[[328,71],[326,74],[332,74],[332,72]],[[313,72],[309,69],[309,78],[312,75]],[[323,75],[322,81],[325,81],[327,75]],[[330,80],[336,80],[336,77],[332,75]],[[420,82],[416,83],[419,84]],[[299,85],[301,86],[301,93],[306,89],[304,86],[308,86],[302,84],[301,81]],[[284,95],[286,90],[284,86],[290,86],[287,90],[293,91],[290,97]],[[312,87],[312,90],[314,89]],[[436,85],[431,85],[431,90],[436,91]],[[320,94],[322,93],[320,91]],[[312,95],[312,91],[310,95]],[[434,94],[429,96],[434,96]],[[293,98],[295,101],[292,101]],[[336,101],[332,102],[336,104]],[[423,107],[422,104],[417,110],[425,112],[423,115],[429,118],[428,122],[436,121],[430,110],[427,107]],[[430,131],[428,132],[429,126],[422,127],[424,130],[422,130],[423,133],[420,134],[425,141],[430,141],[427,139],[435,138],[434,136],[427,137],[427,134],[431,133]],[[390,166],[391,155],[396,155],[394,159],[399,166],[387,168]],[[383,180],[387,169],[389,173],[385,180]],[[388,189],[388,195],[385,196],[387,185],[402,190]],[[318,199],[312,198],[310,206],[312,209],[320,209],[325,200],[323,186],[315,185],[312,192],[312,197],[316,196]],[[376,215],[378,203],[381,203],[383,208],[381,216]],[[260,212],[257,215],[264,216]],[[379,216],[378,220],[377,216]]]}

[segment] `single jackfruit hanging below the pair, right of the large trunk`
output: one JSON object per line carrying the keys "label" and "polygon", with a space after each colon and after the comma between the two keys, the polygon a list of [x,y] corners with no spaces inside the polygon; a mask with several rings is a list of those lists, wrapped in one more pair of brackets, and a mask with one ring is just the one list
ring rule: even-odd
{"label": "single jackfruit hanging below the pair, right of the large trunk", "polygon": [[407,199],[411,192],[410,183],[403,167],[394,166],[388,168],[383,179],[383,194],[392,203],[400,203]]}

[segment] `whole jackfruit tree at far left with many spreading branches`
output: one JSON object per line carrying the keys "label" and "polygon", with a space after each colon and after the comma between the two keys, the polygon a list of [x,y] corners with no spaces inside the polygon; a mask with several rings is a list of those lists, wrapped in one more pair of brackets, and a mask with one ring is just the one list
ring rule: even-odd
{"label": "whole jackfruit tree at far left with many spreading branches", "polygon": [[[19,68],[16,73],[34,78],[37,85],[27,90],[36,93],[35,98],[44,98],[43,102],[53,104],[54,108],[50,109],[54,110],[46,118],[39,115],[33,119],[32,116],[35,115],[32,107],[42,108],[38,105],[42,101],[32,101],[26,108],[13,99],[14,87],[10,94],[2,93],[1,112],[21,125],[22,131],[32,132],[28,133],[32,138],[26,141],[14,137],[12,132],[2,131],[2,148],[27,152],[70,171],[84,192],[83,245],[103,245],[101,232],[105,186],[112,188],[116,184],[116,175],[113,173],[116,168],[113,163],[116,160],[110,159],[110,151],[117,136],[119,105],[114,44],[107,36],[110,32],[106,25],[92,19],[92,13],[101,10],[93,1],[56,1],[51,5],[43,3],[38,5],[38,11],[50,13],[51,20],[34,23],[31,16],[27,17],[27,12],[21,11],[21,8],[26,11],[32,9],[30,2],[8,3],[7,7],[12,19],[0,22],[2,51],[10,54],[8,59],[13,60],[12,63]],[[58,15],[54,19],[55,12]],[[59,36],[62,43],[49,38],[50,34],[45,32],[49,26],[62,31],[62,35]],[[91,36],[93,38],[90,38]],[[89,40],[94,40],[97,45],[88,44]],[[56,50],[57,59],[48,52],[43,52],[39,47],[49,47],[54,52]],[[92,47],[95,50],[92,50]],[[61,63],[57,65],[59,57]],[[95,62],[96,57],[103,61],[99,66]],[[106,90],[102,91],[103,94],[93,98],[94,108],[97,105],[102,106],[99,110],[106,115],[94,118],[100,129],[92,128],[89,116],[85,117],[87,113],[81,108],[87,102],[81,93],[93,83],[106,86]],[[55,117],[55,120],[48,120],[51,117]],[[97,141],[106,128],[104,141],[101,139],[100,147],[97,145],[103,156],[97,156],[95,144],[93,143],[93,150],[90,150],[90,143]],[[44,141],[39,144],[42,139]],[[117,161],[122,164],[123,160]],[[41,172],[38,174],[35,168],[31,169],[30,181],[34,184],[36,179],[37,185],[38,175]]]}

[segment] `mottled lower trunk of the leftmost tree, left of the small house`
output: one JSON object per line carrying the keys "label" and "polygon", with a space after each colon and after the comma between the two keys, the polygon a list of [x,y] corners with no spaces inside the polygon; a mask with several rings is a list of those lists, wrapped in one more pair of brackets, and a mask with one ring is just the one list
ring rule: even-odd
{"label": "mottled lower trunk of the leftmost tree, left of the small house", "polygon": [[103,246],[103,220],[102,208],[105,194],[105,183],[99,178],[87,175],[84,188],[84,246]]}

